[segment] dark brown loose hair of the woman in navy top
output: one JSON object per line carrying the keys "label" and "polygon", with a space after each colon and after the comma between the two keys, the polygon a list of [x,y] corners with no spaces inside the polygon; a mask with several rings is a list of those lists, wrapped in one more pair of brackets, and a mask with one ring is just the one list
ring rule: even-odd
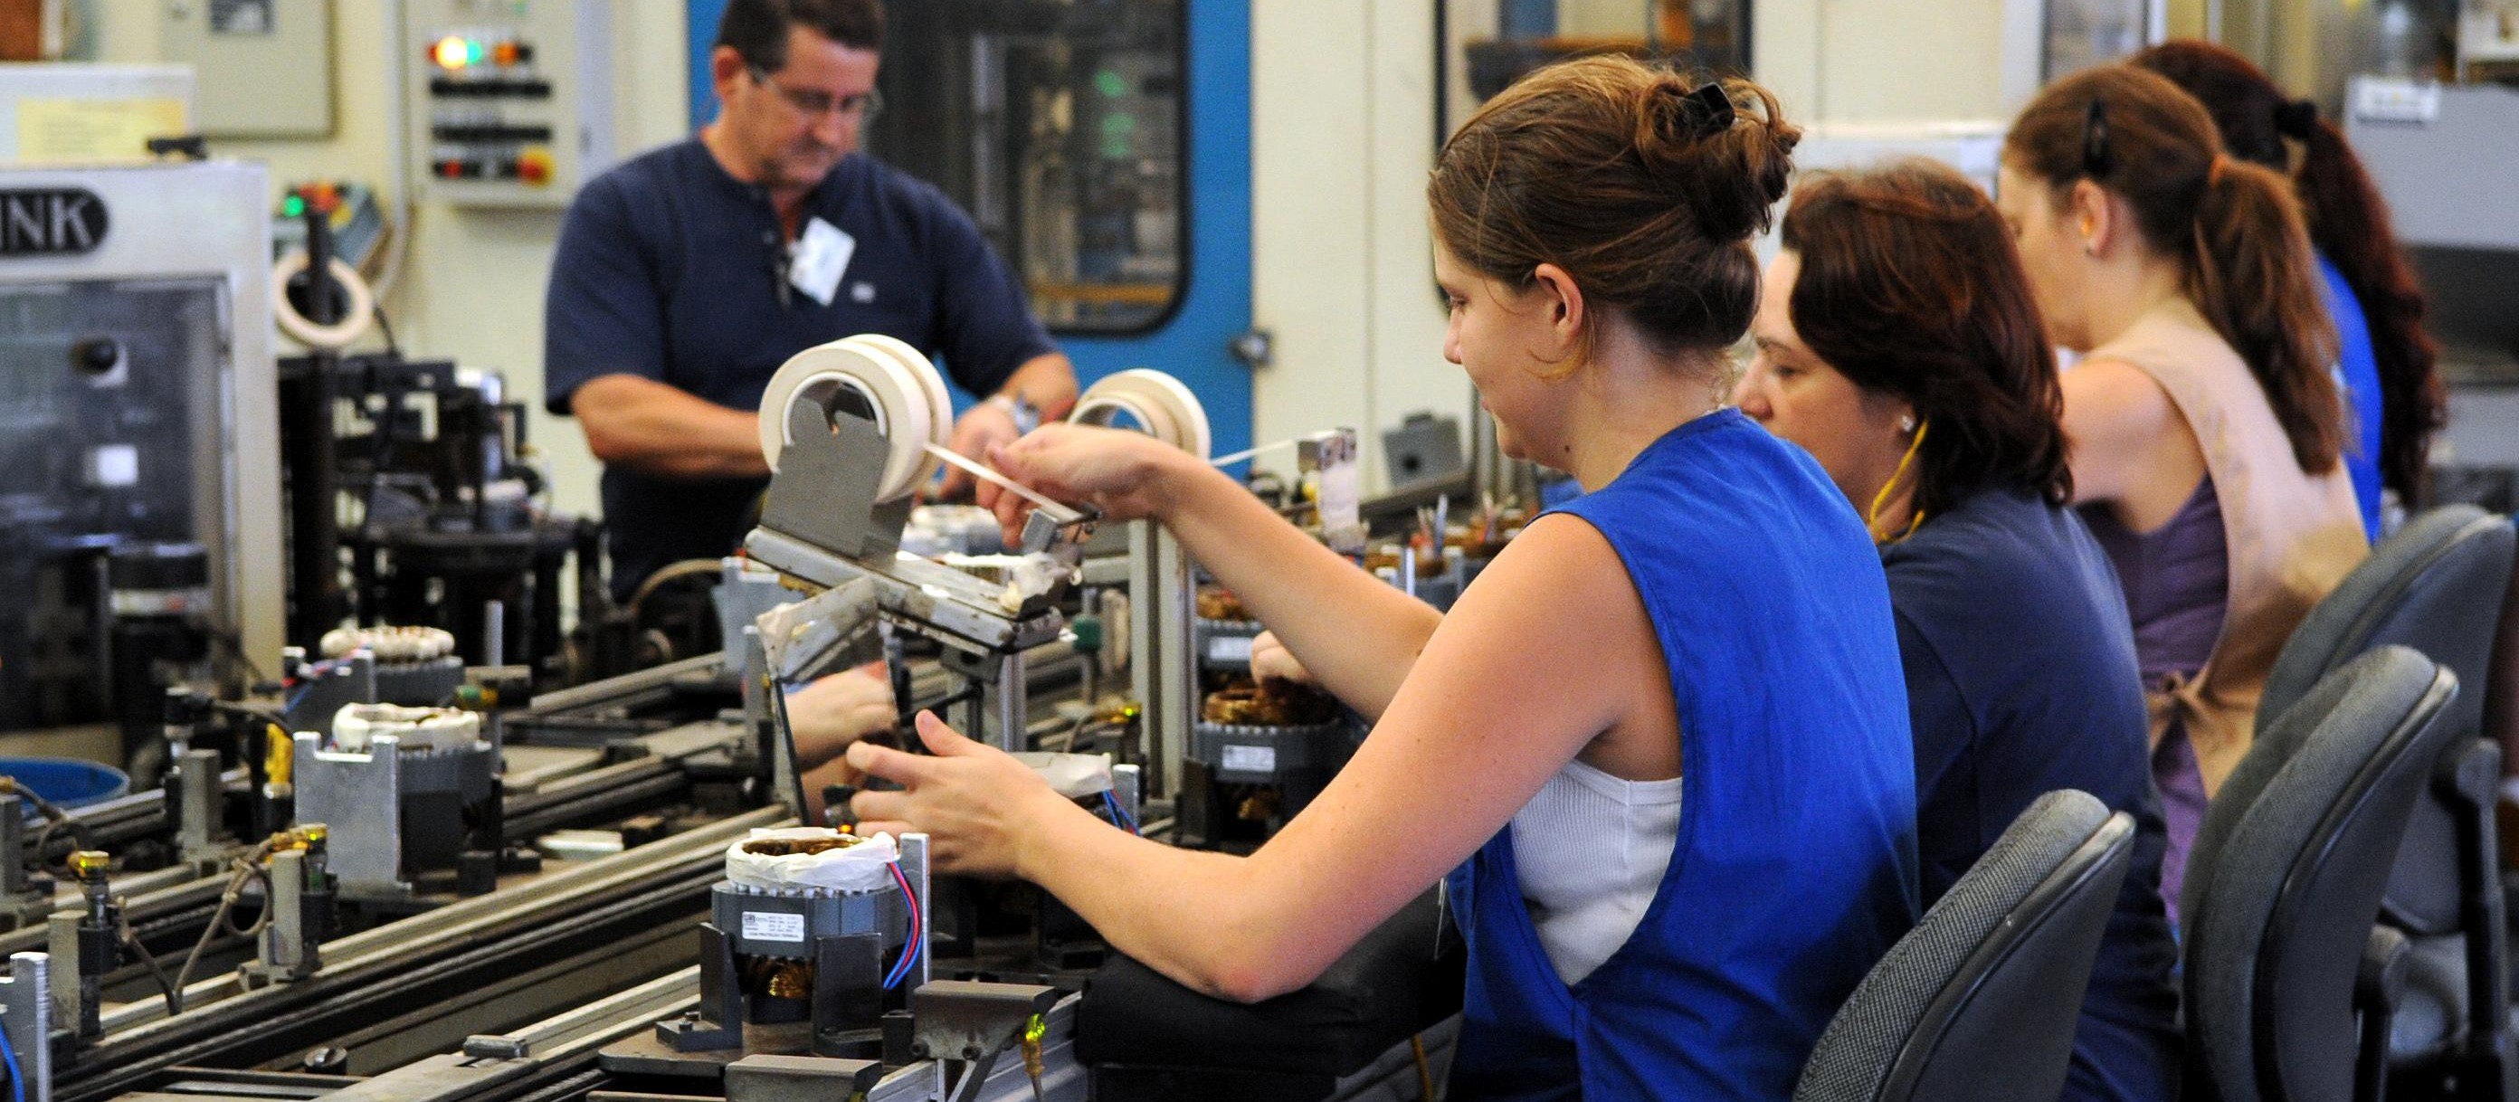
{"label": "dark brown loose hair of the woman in navy top", "polygon": [[1804,176],[1783,249],[1801,257],[1788,302],[1801,342],[1932,425],[1919,511],[1993,486],[2073,501],[2056,352],[1985,191],[1940,161]]}

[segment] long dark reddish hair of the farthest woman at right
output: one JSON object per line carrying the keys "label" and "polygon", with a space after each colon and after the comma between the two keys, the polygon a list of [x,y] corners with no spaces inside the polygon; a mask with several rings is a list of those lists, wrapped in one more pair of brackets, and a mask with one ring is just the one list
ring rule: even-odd
{"label": "long dark reddish hair of the farthest woman at right", "polygon": [[2380,483],[2396,491],[2406,508],[2423,501],[2423,465],[2431,433],[2448,423],[2448,395],[2441,387],[2441,347],[2423,332],[2428,299],[2413,277],[2413,264],[2396,247],[2388,201],[2363,171],[2353,146],[2335,123],[2317,118],[2317,106],[2292,101],[2247,58],[2214,43],[2161,43],[2131,58],[2186,88],[2229,156],[2275,171],[2292,171],[2292,151],[2302,148],[2292,189],[2317,247],[2353,287],[2363,320],[2370,325],[2370,357],[2378,362]]}

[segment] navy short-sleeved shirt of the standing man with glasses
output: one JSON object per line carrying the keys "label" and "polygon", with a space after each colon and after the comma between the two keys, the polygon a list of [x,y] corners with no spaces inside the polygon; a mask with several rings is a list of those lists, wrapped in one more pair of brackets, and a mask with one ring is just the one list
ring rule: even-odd
{"label": "navy short-sleeved shirt of the standing man with glasses", "polygon": [[[844,159],[806,196],[804,219],[856,239],[829,304],[781,294],[786,239],[768,194],[728,176],[698,138],[589,181],[552,259],[544,405],[564,415],[587,380],[637,375],[756,410],[781,362],[859,332],[914,345],[975,395],[1053,350],[970,216],[899,169]],[[657,566],[731,554],[763,486],[605,468],[615,596]]]}

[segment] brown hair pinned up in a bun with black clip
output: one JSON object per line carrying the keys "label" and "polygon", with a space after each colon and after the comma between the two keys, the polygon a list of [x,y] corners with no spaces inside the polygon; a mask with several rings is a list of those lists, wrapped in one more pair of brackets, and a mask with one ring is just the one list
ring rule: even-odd
{"label": "brown hair pinned up in a bun with black clip", "polygon": [[1426,201],[1469,269],[1527,289],[1557,264],[1660,352],[1713,352],[1758,312],[1748,239],[1771,224],[1799,138],[1748,81],[1577,58],[1461,123]]}

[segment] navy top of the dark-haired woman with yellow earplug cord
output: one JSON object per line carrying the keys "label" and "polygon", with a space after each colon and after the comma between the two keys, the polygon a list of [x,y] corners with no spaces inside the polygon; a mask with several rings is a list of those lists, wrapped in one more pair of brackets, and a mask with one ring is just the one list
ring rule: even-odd
{"label": "navy top of the dark-haired woman with yellow earplug cord", "polygon": [[2066,1099],[2179,1092],[2166,833],[2126,599],[2081,518],[2028,491],[1977,491],[1882,546],[1914,727],[1925,903],[2040,795],[2078,788],[2134,815],[2134,868],[2091,966]]}

